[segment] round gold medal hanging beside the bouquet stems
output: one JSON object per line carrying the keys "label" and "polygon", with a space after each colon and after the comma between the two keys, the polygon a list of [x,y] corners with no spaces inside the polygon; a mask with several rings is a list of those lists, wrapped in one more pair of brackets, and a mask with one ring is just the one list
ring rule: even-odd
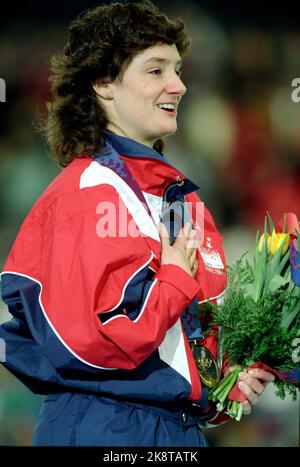
{"label": "round gold medal hanging beside the bouquet stems", "polygon": [[201,381],[208,388],[214,388],[220,381],[220,369],[211,352],[200,342],[199,339],[189,340]]}

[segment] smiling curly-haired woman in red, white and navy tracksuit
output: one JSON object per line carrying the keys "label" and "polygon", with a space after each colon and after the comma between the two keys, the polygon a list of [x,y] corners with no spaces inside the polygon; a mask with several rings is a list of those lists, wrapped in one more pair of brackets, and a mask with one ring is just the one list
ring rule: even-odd
{"label": "smiling curly-haired woman in red, white and navy tracksuit", "polygon": [[[201,426],[226,420],[188,342],[193,307],[226,286],[221,236],[162,154],[188,45],[150,2],[111,4],[75,20],[53,62],[46,130],[64,170],[2,274],[5,365],[47,394],[34,445],[205,446]],[[273,378],[256,372],[241,375],[248,413]]]}

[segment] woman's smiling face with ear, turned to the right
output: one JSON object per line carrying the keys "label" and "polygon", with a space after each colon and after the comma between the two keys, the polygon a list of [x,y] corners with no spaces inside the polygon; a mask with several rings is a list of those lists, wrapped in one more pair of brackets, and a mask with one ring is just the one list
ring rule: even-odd
{"label": "woman's smiling face with ear, turned to the right", "polygon": [[155,45],[132,59],[121,81],[95,82],[109,121],[107,129],[150,147],[174,133],[177,107],[186,92],[180,66],[175,44]]}

